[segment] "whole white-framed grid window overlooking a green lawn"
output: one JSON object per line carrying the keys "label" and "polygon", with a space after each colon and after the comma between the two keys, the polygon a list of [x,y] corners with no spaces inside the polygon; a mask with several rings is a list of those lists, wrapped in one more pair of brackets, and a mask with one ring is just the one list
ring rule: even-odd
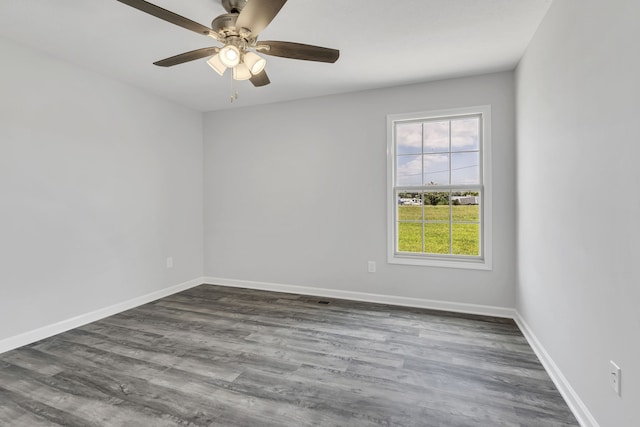
{"label": "whole white-framed grid window overlooking a green lawn", "polygon": [[491,269],[489,106],[390,115],[388,261]]}

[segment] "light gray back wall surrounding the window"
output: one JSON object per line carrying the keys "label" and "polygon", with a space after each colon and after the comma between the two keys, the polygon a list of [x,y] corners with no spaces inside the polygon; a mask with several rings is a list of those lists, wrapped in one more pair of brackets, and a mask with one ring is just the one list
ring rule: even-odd
{"label": "light gray back wall surrounding the window", "polygon": [[[514,103],[504,72],[206,114],[205,276],[513,307]],[[386,115],[483,104],[493,271],[387,264]]]}

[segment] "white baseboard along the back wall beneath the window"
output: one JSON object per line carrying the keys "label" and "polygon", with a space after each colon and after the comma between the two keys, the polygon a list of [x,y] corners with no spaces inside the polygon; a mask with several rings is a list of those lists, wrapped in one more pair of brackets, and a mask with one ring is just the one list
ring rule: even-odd
{"label": "white baseboard along the back wall beneath the window", "polygon": [[203,280],[203,283],[208,283],[210,285],[229,286],[235,288],[260,289],[263,291],[285,292],[363,302],[375,302],[403,307],[428,308],[432,310],[453,311],[456,313],[506,317],[509,319],[513,319],[515,316],[515,310],[511,308],[494,307],[489,305],[465,304],[422,298],[399,297],[394,295],[371,294],[366,292],[341,291],[338,289],[283,285],[280,283],[254,282],[249,280],[225,279],[220,277],[203,277]]}

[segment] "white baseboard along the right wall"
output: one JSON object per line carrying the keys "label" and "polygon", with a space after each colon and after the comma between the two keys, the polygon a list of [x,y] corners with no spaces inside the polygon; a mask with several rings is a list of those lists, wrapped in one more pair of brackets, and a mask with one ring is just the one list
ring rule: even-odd
{"label": "white baseboard along the right wall", "polygon": [[571,409],[571,412],[573,412],[573,415],[576,417],[580,425],[582,427],[600,427],[582,399],[580,399],[580,396],[578,396],[578,393],[576,393],[573,387],[571,387],[571,384],[569,384],[567,378],[562,374],[558,365],[556,365],[551,356],[549,356],[549,353],[547,353],[529,325],[527,325],[527,322],[524,321],[517,310],[515,311],[513,320],[515,320],[516,324],[522,331],[522,334],[536,353],[536,356],[540,359],[542,366],[551,377],[551,380],[564,398],[565,402],[567,402],[569,409]]}

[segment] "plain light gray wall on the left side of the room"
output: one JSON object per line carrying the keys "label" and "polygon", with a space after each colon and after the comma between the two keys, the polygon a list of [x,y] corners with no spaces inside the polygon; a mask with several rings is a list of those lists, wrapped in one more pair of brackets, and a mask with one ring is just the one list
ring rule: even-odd
{"label": "plain light gray wall on the left side of the room", "polygon": [[0,341],[201,276],[202,114],[0,52]]}

